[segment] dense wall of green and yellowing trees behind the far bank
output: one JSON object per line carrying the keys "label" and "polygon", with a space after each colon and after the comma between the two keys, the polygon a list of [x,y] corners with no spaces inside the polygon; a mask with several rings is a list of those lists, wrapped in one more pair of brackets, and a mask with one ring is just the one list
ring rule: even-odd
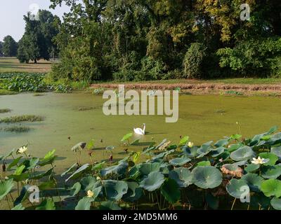
{"label": "dense wall of green and yellowing trees behind the far bank", "polygon": [[51,0],[70,7],[54,78],[281,76],[281,4],[249,0]]}

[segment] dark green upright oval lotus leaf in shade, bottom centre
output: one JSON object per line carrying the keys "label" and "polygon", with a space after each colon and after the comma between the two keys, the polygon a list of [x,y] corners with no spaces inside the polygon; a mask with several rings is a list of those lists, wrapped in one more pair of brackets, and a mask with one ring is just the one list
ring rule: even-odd
{"label": "dark green upright oval lotus leaf in shade, bottom centre", "polygon": [[165,197],[166,201],[174,204],[178,202],[181,197],[181,190],[178,188],[178,184],[173,179],[167,179],[161,187],[161,193]]}

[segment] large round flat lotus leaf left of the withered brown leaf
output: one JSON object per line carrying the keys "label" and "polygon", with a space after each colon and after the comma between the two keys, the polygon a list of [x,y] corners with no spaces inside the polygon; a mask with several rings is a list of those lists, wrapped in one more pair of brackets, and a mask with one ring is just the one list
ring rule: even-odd
{"label": "large round flat lotus leaf left of the withered brown leaf", "polygon": [[192,182],[200,188],[216,188],[221,184],[222,175],[216,167],[195,167]]}

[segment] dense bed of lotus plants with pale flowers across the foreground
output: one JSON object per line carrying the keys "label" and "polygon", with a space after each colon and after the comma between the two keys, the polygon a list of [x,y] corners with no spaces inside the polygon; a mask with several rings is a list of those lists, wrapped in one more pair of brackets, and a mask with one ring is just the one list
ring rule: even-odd
{"label": "dense bed of lotus plants with pale flowers across the foreground", "polygon": [[[129,138],[131,134],[122,140]],[[10,209],[37,210],[146,209],[148,205],[153,209],[281,209],[281,132],[272,127],[240,139],[240,134],[233,134],[195,146],[183,137],[178,145],[160,150],[169,142],[164,139],[117,162],[81,165],[80,160],[60,175],[65,179],[60,186],[54,175],[55,151],[36,158],[21,147],[0,156],[4,164],[9,161],[0,181],[0,200],[6,200]],[[93,142],[79,143],[72,151],[81,153],[85,147],[92,152]],[[41,203],[29,202],[28,187],[36,181],[40,181]],[[245,191],[249,200],[243,200]]]}

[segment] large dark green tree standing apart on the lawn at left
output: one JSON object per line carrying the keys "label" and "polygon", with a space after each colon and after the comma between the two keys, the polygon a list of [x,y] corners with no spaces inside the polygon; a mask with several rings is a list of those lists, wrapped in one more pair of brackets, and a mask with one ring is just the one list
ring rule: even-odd
{"label": "large dark green tree standing apart on the lawn at left", "polygon": [[24,16],[25,34],[19,41],[18,59],[21,63],[30,60],[37,63],[43,58],[49,60],[58,55],[54,37],[58,34],[60,19],[48,10],[39,10],[39,20],[31,20],[30,13]]}

